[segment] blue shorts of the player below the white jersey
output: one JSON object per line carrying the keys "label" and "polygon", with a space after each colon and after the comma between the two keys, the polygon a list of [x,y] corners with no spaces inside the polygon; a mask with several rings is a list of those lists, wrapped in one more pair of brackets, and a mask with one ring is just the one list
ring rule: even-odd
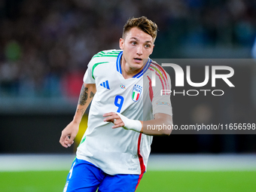
{"label": "blue shorts of the player below the white jersey", "polygon": [[75,158],[63,192],[132,192],[142,175],[108,175],[92,163]]}

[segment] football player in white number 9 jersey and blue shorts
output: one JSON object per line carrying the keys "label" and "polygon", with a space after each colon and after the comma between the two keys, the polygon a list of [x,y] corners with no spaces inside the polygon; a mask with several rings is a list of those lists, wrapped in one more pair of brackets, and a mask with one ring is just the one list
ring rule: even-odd
{"label": "football player in white number 9 jersey and blue shorts", "polygon": [[[121,50],[93,56],[74,119],[59,142],[72,145],[79,123],[90,106],[88,127],[69,172],[64,191],[135,191],[146,170],[152,136],[169,136],[172,126],[169,75],[149,56],[157,25],[146,17],[133,18],[123,27]],[[152,81],[156,86],[152,86]]]}

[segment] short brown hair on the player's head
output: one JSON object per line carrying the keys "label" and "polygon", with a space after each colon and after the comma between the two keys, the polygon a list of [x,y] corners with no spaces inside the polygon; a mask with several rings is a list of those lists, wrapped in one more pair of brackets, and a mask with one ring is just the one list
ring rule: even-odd
{"label": "short brown hair on the player's head", "polygon": [[126,32],[129,32],[133,27],[137,27],[143,32],[148,33],[153,40],[157,38],[157,24],[148,20],[145,16],[138,18],[133,17],[127,20],[126,24],[123,26],[123,38],[125,38]]}

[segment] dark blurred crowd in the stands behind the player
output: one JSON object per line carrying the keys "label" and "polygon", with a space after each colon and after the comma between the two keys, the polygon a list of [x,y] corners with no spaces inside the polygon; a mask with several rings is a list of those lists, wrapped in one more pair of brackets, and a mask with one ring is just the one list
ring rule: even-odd
{"label": "dark blurred crowd in the stands behind the player", "polygon": [[123,24],[142,15],[159,26],[157,58],[251,47],[256,34],[253,0],[2,0],[0,97],[78,96],[93,54],[118,49]]}

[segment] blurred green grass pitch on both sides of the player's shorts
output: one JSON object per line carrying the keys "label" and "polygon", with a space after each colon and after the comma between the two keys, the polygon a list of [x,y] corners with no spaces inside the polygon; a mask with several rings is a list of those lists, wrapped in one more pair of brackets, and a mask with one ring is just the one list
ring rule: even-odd
{"label": "blurred green grass pitch on both sides of the player's shorts", "polygon": [[[62,191],[68,172],[0,172],[0,189],[5,192]],[[256,172],[148,171],[136,190],[145,191],[256,191]]]}

